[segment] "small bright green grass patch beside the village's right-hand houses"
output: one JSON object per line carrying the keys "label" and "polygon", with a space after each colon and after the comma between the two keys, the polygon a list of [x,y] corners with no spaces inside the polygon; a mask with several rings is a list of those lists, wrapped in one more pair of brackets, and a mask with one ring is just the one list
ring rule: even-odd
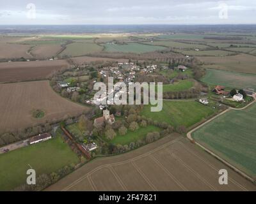
{"label": "small bright green grass patch beside the village's right-hand houses", "polygon": [[[175,82],[174,84],[164,84],[163,85],[163,92],[170,92],[170,91],[186,91],[192,88],[194,82],[189,80],[180,80],[179,82]],[[157,87],[156,87],[157,90]]]}

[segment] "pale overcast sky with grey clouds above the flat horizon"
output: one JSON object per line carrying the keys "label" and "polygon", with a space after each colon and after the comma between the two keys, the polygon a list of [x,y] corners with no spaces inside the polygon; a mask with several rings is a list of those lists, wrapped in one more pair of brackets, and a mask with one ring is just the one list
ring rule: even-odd
{"label": "pale overcast sky with grey clouds above the flat horizon", "polygon": [[1,25],[256,24],[255,0],[0,0],[0,3]]}

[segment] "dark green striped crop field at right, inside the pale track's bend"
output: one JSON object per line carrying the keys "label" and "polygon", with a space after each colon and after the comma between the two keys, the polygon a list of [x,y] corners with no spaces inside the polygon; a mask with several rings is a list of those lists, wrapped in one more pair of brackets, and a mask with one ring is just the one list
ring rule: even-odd
{"label": "dark green striped crop field at right, inside the pale track's bend", "polygon": [[256,105],[231,110],[192,133],[193,138],[256,179]]}

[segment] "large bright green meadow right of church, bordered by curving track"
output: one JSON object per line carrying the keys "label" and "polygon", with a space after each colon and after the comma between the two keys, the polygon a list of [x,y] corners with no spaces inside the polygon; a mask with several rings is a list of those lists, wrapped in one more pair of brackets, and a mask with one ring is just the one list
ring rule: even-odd
{"label": "large bright green meadow right of church, bordered by curving track", "polygon": [[141,115],[159,122],[189,128],[205,117],[214,113],[211,106],[204,106],[196,101],[163,101],[161,112],[150,112],[150,105],[145,105]]}

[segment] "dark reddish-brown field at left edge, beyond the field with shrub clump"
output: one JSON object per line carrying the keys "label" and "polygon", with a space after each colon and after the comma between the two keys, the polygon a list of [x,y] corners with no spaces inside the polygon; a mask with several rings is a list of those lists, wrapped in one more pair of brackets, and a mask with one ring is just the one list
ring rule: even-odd
{"label": "dark reddish-brown field at left edge, beyond the field with shrub clump", "polygon": [[67,67],[68,62],[65,60],[1,62],[0,83],[45,79],[51,75],[52,71]]}

